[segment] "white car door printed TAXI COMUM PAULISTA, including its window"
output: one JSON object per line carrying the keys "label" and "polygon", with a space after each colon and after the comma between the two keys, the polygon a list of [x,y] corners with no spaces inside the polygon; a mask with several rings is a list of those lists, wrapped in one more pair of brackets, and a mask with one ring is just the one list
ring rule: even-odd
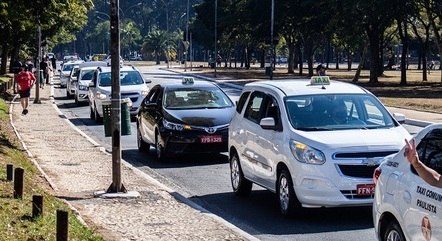
{"label": "white car door printed TAXI COMUM PAULISTA, including its window", "polygon": [[[419,159],[442,174],[442,129],[433,129],[417,145]],[[406,160],[404,160],[406,161]],[[403,194],[410,199],[404,213],[404,231],[411,240],[442,240],[442,189],[429,185],[410,165]]]}

